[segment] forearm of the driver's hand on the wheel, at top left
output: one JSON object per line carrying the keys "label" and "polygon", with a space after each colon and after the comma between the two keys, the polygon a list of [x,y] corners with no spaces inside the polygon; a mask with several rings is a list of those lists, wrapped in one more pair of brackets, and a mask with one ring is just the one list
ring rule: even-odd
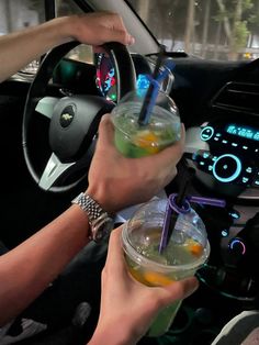
{"label": "forearm of the driver's hand on the wheel, at top left", "polygon": [[0,37],[0,81],[52,47],[74,40],[76,16],[64,16]]}

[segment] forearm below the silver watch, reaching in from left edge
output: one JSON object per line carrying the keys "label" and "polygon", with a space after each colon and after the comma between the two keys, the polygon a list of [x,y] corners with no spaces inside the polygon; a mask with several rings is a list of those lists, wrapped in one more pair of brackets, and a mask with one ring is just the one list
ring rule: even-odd
{"label": "forearm below the silver watch, reaching in from left edge", "polygon": [[0,256],[0,325],[26,308],[88,243],[88,218],[72,205],[16,248]]}

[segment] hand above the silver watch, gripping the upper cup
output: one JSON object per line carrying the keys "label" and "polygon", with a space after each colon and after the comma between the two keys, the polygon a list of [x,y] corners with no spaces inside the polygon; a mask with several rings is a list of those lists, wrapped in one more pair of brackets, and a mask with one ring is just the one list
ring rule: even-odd
{"label": "hand above the silver watch, gripping the upper cup", "polygon": [[176,176],[183,145],[182,125],[181,140],[170,147],[153,156],[126,158],[114,146],[114,129],[106,114],[99,126],[87,192],[108,212],[146,202]]}

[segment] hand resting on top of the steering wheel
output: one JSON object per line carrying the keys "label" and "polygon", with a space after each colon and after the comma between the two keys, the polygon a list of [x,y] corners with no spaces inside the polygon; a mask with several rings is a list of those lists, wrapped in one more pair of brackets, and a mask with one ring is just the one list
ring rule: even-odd
{"label": "hand resting on top of the steering wheel", "polygon": [[125,45],[134,43],[134,37],[126,31],[122,18],[116,13],[97,12],[75,15],[72,19],[72,36],[81,43],[93,46],[111,41]]}

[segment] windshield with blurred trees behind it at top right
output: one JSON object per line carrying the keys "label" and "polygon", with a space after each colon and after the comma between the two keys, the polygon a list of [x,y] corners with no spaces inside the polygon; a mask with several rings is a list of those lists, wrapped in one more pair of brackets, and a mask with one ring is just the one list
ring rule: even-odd
{"label": "windshield with blurred trees behind it at top right", "polygon": [[216,60],[259,57],[259,0],[130,0],[168,51]]}

